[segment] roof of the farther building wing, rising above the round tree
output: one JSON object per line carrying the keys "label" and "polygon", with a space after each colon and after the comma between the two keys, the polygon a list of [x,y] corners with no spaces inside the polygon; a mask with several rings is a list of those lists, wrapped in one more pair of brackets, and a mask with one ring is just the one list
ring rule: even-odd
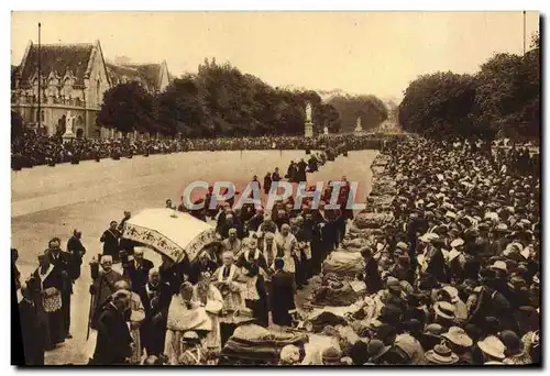
{"label": "roof of the farther building wing, rising above the round tree", "polygon": [[123,77],[128,80],[140,81],[148,90],[161,89],[161,64],[113,64],[107,63],[107,71],[111,76],[111,81],[116,84],[123,82]]}

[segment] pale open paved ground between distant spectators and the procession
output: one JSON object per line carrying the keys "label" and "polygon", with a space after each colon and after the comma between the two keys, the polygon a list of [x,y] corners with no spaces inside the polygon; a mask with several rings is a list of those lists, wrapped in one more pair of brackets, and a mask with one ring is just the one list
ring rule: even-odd
{"label": "pale open paved ground between distant spectators and the procession", "polygon": [[[358,201],[370,190],[370,165],[377,152],[351,152],[328,163],[308,183],[327,181],[346,175],[360,184]],[[183,187],[193,180],[228,180],[237,184],[260,179],[278,166],[286,172],[290,159],[306,157],[301,151],[194,152],[153,155],[119,162],[82,162],[80,165],[38,166],[12,173],[12,246],[20,253],[18,266],[22,279],[36,267],[36,256],[47,241],[59,236],[64,243],[73,229],[82,231],[88,250],[82,276],[75,284],[72,305],[73,340],[46,354],[47,364],[79,364],[86,361],[88,287],[91,281],[88,262],[101,248],[99,237],[109,221],[120,220],[124,210],[133,213],[144,208],[164,207],[167,198],[178,201]],[[361,199],[360,199],[361,198]],[[158,265],[157,255],[147,258]]]}

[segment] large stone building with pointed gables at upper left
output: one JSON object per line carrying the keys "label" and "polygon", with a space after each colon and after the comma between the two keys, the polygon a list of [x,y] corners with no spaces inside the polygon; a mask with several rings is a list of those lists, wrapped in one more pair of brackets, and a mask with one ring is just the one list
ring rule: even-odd
{"label": "large stone building with pointed gables at upper left", "polygon": [[[29,42],[21,64],[12,66],[11,109],[25,126],[40,128],[53,135],[64,132],[67,113],[74,117],[78,137],[112,135],[96,124],[103,93],[111,87],[139,81],[152,93],[163,91],[170,81],[166,62],[161,64],[107,63],[99,41],[82,44]],[[38,77],[42,92],[38,114]]]}

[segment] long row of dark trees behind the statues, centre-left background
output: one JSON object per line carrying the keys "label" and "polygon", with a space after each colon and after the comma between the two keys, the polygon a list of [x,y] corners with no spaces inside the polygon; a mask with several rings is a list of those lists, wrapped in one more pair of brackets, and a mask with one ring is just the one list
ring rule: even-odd
{"label": "long row of dark trees behind the statues, centre-left background", "polygon": [[387,118],[374,96],[338,97],[323,103],[314,90],[273,88],[230,64],[205,60],[196,75],[174,79],[160,95],[138,82],[118,85],[103,96],[97,117],[100,126],[122,132],[150,132],[188,137],[229,135],[297,135],[304,133],[305,108],[312,107],[316,132],[342,124],[375,128]]}

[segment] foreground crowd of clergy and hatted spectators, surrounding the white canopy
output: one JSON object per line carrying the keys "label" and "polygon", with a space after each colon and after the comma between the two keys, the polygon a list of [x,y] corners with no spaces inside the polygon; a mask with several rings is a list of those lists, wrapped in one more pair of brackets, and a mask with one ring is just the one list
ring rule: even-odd
{"label": "foreground crowd of clergy and hatted spectators, surrounding the white canopy", "polygon": [[[540,364],[539,157],[486,145],[384,142],[371,204],[355,215],[346,185],[340,210],[324,209],[328,188],[317,209],[289,198],[271,212],[191,211],[216,221],[219,242],[182,263],[146,259],[122,236],[124,213],[90,265],[89,363]],[[341,140],[334,153],[350,148]],[[298,164],[286,178],[304,179]],[[34,364],[38,330],[46,349],[70,338],[70,281],[86,248],[78,231],[69,242],[64,252],[53,239],[23,285],[14,266]]]}

